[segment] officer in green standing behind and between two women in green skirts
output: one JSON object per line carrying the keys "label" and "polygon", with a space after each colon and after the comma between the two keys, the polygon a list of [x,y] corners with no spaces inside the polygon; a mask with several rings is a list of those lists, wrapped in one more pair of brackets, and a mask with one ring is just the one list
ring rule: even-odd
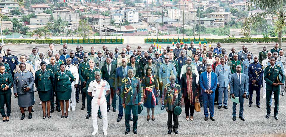
{"label": "officer in green standing behind and between two women in green skirts", "polygon": [[[58,53],[57,53],[58,54]],[[57,72],[57,71],[59,71],[60,70],[60,64],[57,64],[56,63],[56,58],[55,57],[51,57],[51,63],[50,64],[48,64],[47,66],[46,66],[46,68],[48,69],[48,70],[51,70],[52,72],[53,72],[53,74],[55,75],[55,73]],[[51,113],[53,113],[54,112],[54,110],[55,110],[55,102],[54,102],[54,96],[56,96],[56,103],[57,103],[57,106],[56,106],[56,109],[57,109],[57,112],[60,112],[61,110],[60,110],[60,100],[59,99],[57,99],[57,92],[56,91],[53,91],[54,93],[53,93],[53,95],[52,95],[52,99],[51,99]]]}

